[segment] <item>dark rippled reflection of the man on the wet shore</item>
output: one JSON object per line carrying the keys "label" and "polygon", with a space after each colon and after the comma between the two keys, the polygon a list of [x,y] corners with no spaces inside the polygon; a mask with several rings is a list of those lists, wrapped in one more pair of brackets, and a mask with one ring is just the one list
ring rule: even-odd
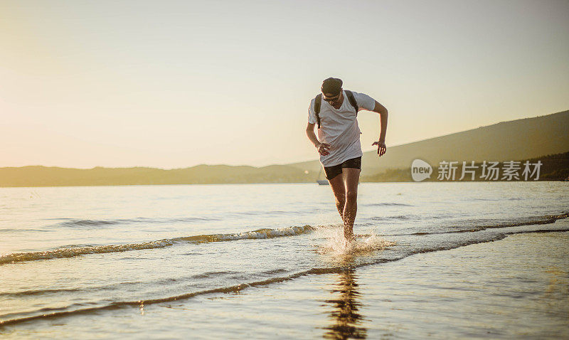
{"label": "dark rippled reflection of the man on the wet shore", "polygon": [[[351,262],[351,258],[345,258],[344,264]],[[361,324],[365,319],[363,315],[358,313],[358,309],[362,307],[360,302],[361,294],[358,292],[358,284],[356,282],[356,270],[350,265],[342,267],[338,272],[338,282],[331,289],[335,299],[326,299],[323,307],[331,306],[333,309],[329,312],[331,324],[322,327],[326,329],[324,338],[326,339],[366,339],[367,329]]]}

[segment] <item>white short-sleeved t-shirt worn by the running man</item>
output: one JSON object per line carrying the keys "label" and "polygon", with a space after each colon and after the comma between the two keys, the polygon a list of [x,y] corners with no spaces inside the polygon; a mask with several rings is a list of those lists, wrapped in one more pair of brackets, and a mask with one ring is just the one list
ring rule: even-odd
{"label": "white short-sleeved t-shirt worn by the running man", "polygon": [[[356,158],[362,155],[360,144],[360,128],[358,127],[358,119],[356,112],[351,106],[346,91],[344,92],[344,100],[338,110],[336,110],[326,100],[320,103],[320,129],[318,129],[318,140],[321,143],[330,145],[329,154],[320,155],[320,163],[323,166],[335,166],[344,163],[348,159]],[[363,93],[352,92],[356,99],[358,110],[373,110],[376,106],[376,100]],[[308,108],[308,122],[317,124],[316,115],[314,114],[314,99],[310,102]]]}

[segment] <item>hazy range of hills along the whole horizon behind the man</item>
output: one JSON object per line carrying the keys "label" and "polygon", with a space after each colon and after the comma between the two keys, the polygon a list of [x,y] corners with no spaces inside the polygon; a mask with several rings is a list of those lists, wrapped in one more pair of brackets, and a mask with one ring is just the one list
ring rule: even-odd
{"label": "hazy range of hills along the whole horizon behind the man", "polygon": [[[413,159],[440,161],[519,161],[549,157],[541,179],[568,176],[569,111],[479,127],[363,155],[362,181],[409,181]],[[565,153],[565,154],[563,154]],[[561,155],[558,155],[561,154]],[[553,156],[545,156],[553,155]],[[112,186],[136,184],[225,184],[314,182],[319,161],[288,165],[198,165],[185,169],[68,169],[46,166],[0,168],[0,186]],[[435,170],[436,171],[436,170]],[[565,176],[565,177],[563,177]],[[323,178],[323,177],[321,177]],[[435,176],[436,178],[436,176]]]}

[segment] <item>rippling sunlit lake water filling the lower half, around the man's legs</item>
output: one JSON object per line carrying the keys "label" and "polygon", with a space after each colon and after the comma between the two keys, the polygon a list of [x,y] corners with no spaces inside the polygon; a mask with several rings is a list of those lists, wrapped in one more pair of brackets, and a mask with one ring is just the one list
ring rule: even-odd
{"label": "rippling sunlit lake water filling the lower half, around the man's legs", "polygon": [[0,188],[0,335],[569,335],[565,182]]}

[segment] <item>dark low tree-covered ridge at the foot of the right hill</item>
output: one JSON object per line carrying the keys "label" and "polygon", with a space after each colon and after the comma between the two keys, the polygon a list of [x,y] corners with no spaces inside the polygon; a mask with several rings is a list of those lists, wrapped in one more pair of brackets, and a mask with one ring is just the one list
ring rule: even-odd
{"label": "dark low tree-covered ridge at the foot of the right hill", "polygon": [[[489,159],[488,161],[491,161]],[[516,160],[519,161],[519,160]],[[519,164],[519,179],[512,178],[511,181],[523,181],[524,176],[522,175],[524,166],[523,164],[529,161],[531,165],[531,170],[533,171],[534,165],[538,161],[541,161],[541,166],[539,169],[539,181],[563,181],[569,179],[569,152],[564,152],[563,154],[550,154],[547,156],[541,156],[533,159],[523,159]],[[425,181],[452,181],[452,179],[438,179],[440,174],[440,164],[431,164],[432,166],[432,174],[430,178],[425,179]],[[459,181],[462,176],[462,161],[459,161],[457,165],[457,169],[455,170],[454,181]],[[469,161],[467,161],[467,166],[472,165]],[[491,181],[491,179],[486,179],[482,176],[482,162],[474,163],[474,180],[472,179],[471,174],[465,174],[464,179],[462,181]],[[503,166],[504,162],[499,163],[499,179],[496,181],[507,181],[509,176],[506,176],[505,179],[503,173]],[[468,170],[468,169],[467,169]],[[487,171],[486,171],[487,175]],[[528,176],[528,181],[533,181],[536,178],[536,175]],[[362,174],[361,181],[366,182],[404,182],[404,181],[413,181],[411,178],[411,170],[410,167],[407,169],[387,169],[382,171],[378,174],[373,175],[366,175]]]}

